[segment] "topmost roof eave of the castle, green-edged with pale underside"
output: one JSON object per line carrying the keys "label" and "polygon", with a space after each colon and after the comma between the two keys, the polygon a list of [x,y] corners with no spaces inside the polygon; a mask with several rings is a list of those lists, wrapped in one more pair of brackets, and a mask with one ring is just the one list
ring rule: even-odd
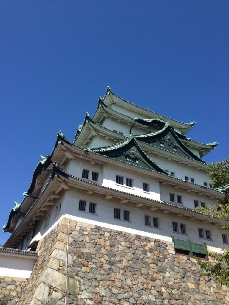
{"label": "topmost roof eave of the castle, green-edged with pale underside", "polygon": [[[110,88],[110,87],[107,87],[107,91],[106,91],[106,94],[105,94],[105,97],[104,97],[104,100],[103,100],[104,102],[105,102],[105,100],[106,100],[106,98],[107,98],[108,93],[109,93],[109,94],[111,93],[111,94],[114,95],[116,98],[121,99],[122,101],[129,103],[130,105],[134,106],[136,109],[142,109],[144,112],[149,113],[149,115],[148,115],[149,117],[150,117],[150,114],[151,114],[151,115],[154,114],[154,115],[156,115],[156,116],[158,116],[158,117],[163,117],[163,118],[165,118],[166,120],[169,120],[169,121],[171,121],[171,122],[174,122],[175,124],[179,124],[179,125],[180,125],[180,129],[183,131],[183,134],[186,134],[186,133],[194,126],[194,124],[195,124],[194,121],[189,122],[189,123],[183,123],[183,122],[180,122],[180,121],[171,119],[171,118],[169,118],[169,117],[162,116],[162,115],[160,115],[159,113],[153,112],[153,111],[148,110],[148,109],[146,109],[146,108],[144,108],[144,107],[138,106],[138,105],[136,105],[136,104],[134,104],[134,103],[132,103],[132,102],[129,102],[129,101],[125,100],[125,99],[122,99],[120,96],[116,95],[114,92],[111,91],[111,88]],[[108,105],[108,106],[110,106],[110,105]]]}

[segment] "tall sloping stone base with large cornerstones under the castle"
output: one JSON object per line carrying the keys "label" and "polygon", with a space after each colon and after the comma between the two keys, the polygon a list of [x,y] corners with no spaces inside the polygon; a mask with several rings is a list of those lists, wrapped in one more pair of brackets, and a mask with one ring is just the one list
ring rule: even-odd
{"label": "tall sloping stone base with large cornerstones under the castle", "polygon": [[[68,219],[38,244],[39,257],[17,305],[64,305]],[[67,304],[220,305],[229,291],[173,243],[70,221]],[[9,305],[9,304],[7,304]]]}

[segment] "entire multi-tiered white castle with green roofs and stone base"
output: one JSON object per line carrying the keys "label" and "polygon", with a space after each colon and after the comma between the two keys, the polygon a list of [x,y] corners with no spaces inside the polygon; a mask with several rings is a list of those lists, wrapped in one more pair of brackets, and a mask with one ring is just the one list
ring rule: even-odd
{"label": "entire multi-tiered white castle with green roofs and stone base", "polygon": [[0,304],[229,304],[193,258],[211,261],[229,232],[196,210],[224,195],[202,160],[217,143],[192,127],[108,87],[73,142],[59,132],[5,220]]}

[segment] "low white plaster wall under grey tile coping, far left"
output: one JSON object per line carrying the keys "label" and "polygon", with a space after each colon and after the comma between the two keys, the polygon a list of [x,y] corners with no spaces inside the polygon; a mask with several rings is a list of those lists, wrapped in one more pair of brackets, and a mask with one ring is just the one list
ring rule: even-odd
{"label": "low white plaster wall under grey tile coping, far left", "polygon": [[36,258],[0,254],[0,275],[29,278]]}

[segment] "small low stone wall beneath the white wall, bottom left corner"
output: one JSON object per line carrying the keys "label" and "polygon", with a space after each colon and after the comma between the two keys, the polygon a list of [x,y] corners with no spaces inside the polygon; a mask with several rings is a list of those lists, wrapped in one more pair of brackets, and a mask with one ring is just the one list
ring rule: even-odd
{"label": "small low stone wall beneath the white wall, bottom left corner", "polygon": [[26,284],[26,278],[0,276],[0,305],[16,305]]}

